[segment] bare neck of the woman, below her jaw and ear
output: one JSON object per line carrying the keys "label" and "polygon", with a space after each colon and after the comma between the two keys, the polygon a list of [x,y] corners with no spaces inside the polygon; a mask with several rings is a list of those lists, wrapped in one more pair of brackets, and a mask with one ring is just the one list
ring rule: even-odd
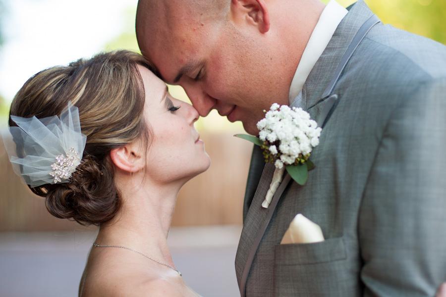
{"label": "bare neck of the woman, below her jaw and ear", "polygon": [[136,177],[115,181],[122,206],[110,222],[101,225],[96,244],[161,252],[171,260],[167,235],[181,184],[154,183]]}

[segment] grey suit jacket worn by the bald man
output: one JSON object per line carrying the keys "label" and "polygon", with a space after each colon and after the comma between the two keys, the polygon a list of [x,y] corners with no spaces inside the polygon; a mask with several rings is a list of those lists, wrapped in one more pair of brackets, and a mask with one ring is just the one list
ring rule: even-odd
{"label": "grey suit jacket worn by the bald man", "polygon": [[[371,15],[362,0],[353,5],[310,73],[298,101],[316,120],[341,56]],[[316,168],[280,197],[246,296],[434,296],[446,280],[446,47],[380,23],[333,94],[311,155]],[[254,153],[235,259],[239,284],[267,212],[261,203],[274,166],[262,162]],[[320,225],[326,241],[280,245],[297,213]]]}

